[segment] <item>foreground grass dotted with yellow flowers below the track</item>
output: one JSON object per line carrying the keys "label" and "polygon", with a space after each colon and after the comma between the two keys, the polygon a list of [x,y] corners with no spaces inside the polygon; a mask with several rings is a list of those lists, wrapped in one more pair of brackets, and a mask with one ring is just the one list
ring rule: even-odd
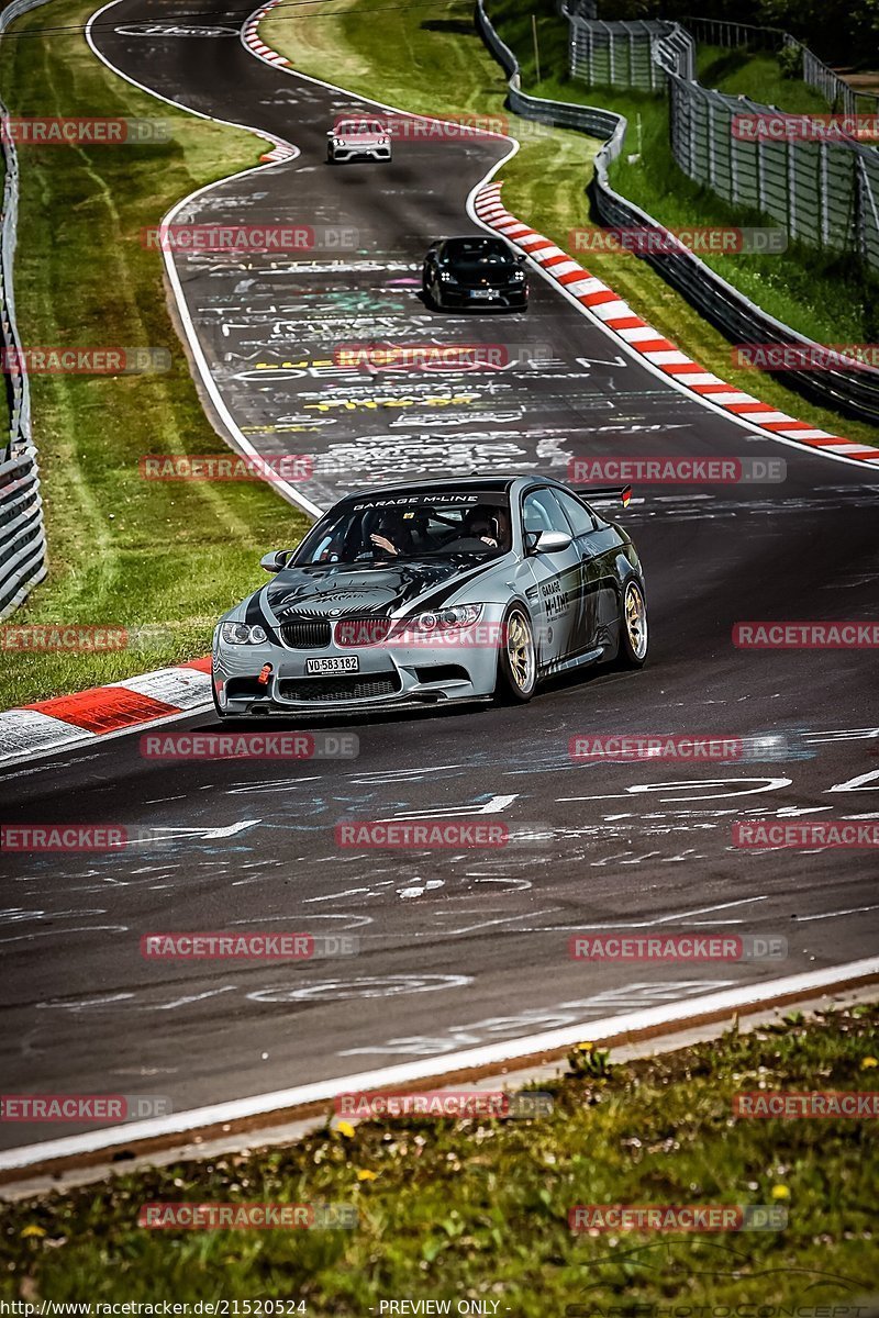
{"label": "foreground grass dotted with yellow flowers below the track", "polygon": [[[542,1086],[553,1110],[539,1119],[328,1120],[290,1148],[42,1195],[0,1211],[0,1296],[140,1300],[149,1277],[152,1300],[303,1300],[312,1318],[402,1298],[494,1300],[518,1318],[569,1305],[865,1305],[879,1275],[872,1123],[734,1119],[731,1103],[759,1087],[872,1089],[878,1053],[876,1006],[627,1065],[577,1049],[579,1074]],[[156,1201],[349,1203],[358,1223],[138,1227],[140,1206]],[[788,1224],[571,1232],[572,1206],[602,1203],[783,1205]]]}

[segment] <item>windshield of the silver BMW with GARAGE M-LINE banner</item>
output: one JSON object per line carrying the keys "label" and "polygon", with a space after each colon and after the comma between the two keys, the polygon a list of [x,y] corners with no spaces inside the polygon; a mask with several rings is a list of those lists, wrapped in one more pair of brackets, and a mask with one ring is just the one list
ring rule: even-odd
{"label": "windshield of the silver BMW with GARAGE M-LINE banner", "polygon": [[438,490],[365,496],[331,513],[302,542],[291,565],[490,558],[510,548],[506,494]]}

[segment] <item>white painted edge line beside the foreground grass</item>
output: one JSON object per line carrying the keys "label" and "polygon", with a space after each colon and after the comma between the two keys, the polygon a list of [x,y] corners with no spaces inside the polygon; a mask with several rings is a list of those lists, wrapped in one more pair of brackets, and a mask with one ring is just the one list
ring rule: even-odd
{"label": "white painted edge line beside the foreground grass", "polygon": [[[38,1166],[61,1159],[90,1157],[107,1149],[124,1148],[145,1140],[157,1140],[175,1135],[190,1135],[199,1130],[210,1130],[233,1122],[269,1116],[273,1112],[289,1112],[314,1103],[331,1103],[339,1094],[351,1091],[381,1091],[406,1082],[420,1082],[440,1078],[449,1073],[503,1068],[517,1058],[536,1054],[557,1053],[576,1046],[584,1039],[601,1043],[621,1035],[642,1035],[650,1031],[679,1028],[691,1020],[709,1015],[755,1010],[771,1006],[778,999],[792,999],[803,994],[814,994],[833,988],[836,985],[851,985],[879,977],[879,957],[853,961],[841,966],[828,966],[805,974],[788,975],[784,979],[768,979],[743,987],[726,988],[721,992],[691,998],[684,1003],[663,1003],[640,1011],[623,1012],[619,1016],[606,1016],[601,1020],[586,1020],[560,1029],[543,1031],[539,1035],[526,1035],[519,1039],[506,1039],[480,1048],[468,1048],[457,1053],[444,1053],[438,1057],[419,1058],[397,1066],[360,1072],[354,1075],[341,1075],[333,1079],[299,1085],[293,1089],[277,1090],[269,1094],[254,1094],[248,1098],[213,1103],[210,1107],[196,1107],[174,1112],[170,1116],[157,1116],[145,1122],[130,1122],[125,1126],[112,1126],[105,1130],[87,1131],[83,1135],[70,1135],[42,1144],[28,1144],[0,1153],[0,1172],[14,1172]],[[258,1141],[258,1135],[253,1135]]]}

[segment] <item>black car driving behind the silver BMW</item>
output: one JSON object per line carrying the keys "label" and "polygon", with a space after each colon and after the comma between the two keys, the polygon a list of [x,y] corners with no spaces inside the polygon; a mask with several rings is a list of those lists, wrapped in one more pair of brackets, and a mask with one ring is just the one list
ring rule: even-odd
{"label": "black car driving behind the silver BMW", "polygon": [[497,237],[441,239],[424,257],[422,290],[434,307],[510,307],[525,311],[525,257]]}

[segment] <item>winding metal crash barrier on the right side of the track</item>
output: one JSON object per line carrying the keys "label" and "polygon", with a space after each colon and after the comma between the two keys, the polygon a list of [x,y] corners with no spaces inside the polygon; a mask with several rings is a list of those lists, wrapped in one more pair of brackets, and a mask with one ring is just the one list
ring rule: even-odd
{"label": "winding metal crash barrier on the right side of the track", "polygon": [[[569,17],[567,9],[561,9]],[[644,228],[664,235],[668,231],[651,215],[613,190],[608,178],[610,163],[623,150],[627,123],[622,115],[594,105],[542,100],[521,88],[519,63],[501,40],[485,12],[485,0],[476,0],[476,25],[492,54],[509,75],[509,105],[523,119],[573,128],[590,137],[605,138],[596,156],[594,178],[588,194],[600,221],[609,228]],[[663,256],[646,253],[642,260],[677,289],[696,310],[710,320],[731,343],[785,343],[820,348],[813,340],[796,333],[755,306],[692,252]],[[780,380],[807,398],[830,405],[862,420],[879,422],[879,370],[788,370],[778,372]]]}

